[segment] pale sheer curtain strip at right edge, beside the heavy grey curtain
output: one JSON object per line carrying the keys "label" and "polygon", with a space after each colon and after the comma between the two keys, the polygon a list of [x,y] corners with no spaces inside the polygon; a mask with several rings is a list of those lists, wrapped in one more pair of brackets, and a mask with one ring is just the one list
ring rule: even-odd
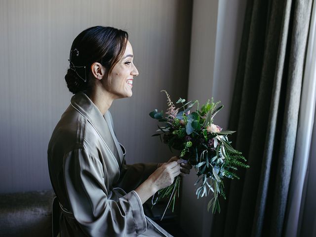
{"label": "pale sheer curtain strip at right edge, beside the heavy grey curtain", "polygon": [[[300,210],[304,207],[307,166],[309,163],[316,105],[316,4],[313,3],[301,104],[285,215],[284,236],[298,236]],[[314,171],[315,172],[315,171]],[[301,217],[302,218],[302,217]]]}

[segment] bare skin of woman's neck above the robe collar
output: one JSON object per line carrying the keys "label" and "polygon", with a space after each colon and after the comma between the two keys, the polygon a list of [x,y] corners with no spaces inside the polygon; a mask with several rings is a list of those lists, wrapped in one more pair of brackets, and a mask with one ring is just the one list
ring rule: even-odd
{"label": "bare skin of woman's neck above the robe collar", "polygon": [[112,102],[114,101],[113,95],[106,91],[102,86],[95,86],[88,96],[102,115],[110,109]]}

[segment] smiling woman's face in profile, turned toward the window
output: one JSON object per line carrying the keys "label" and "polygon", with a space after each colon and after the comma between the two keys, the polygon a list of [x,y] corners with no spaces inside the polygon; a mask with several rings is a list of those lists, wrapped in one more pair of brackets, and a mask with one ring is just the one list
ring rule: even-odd
{"label": "smiling woman's face in profile, turned toward the window", "polygon": [[112,82],[108,91],[114,95],[115,99],[131,97],[133,79],[138,76],[138,71],[133,64],[133,48],[127,41],[125,52],[112,70]]}

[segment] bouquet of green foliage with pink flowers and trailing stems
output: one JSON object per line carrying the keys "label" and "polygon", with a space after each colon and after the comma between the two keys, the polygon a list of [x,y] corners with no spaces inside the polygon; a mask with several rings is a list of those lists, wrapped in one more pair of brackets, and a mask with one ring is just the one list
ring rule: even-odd
{"label": "bouquet of green foliage with pink flowers and trailing stems", "polygon": [[[180,151],[179,162],[189,162],[195,167],[198,176],[195,183],[197,198],[206,197],[211,191],[212,197],[207,210],[212,207],[213,213],[220,212],[218,198],[222,196],[226,199],[223,179],[239,179],[235,173],[237,167],[249,167],[245,164],[246,159],[231,146],[228,139],[235,131],[223,131],[213,123],[213,118],[223,105],[218,107],[220,101],[214,103],[212,98],[200,107],[197,100],[185,103],[186,100],[180,98],[176,104],[181,106],[176,108],[167,91],[162,92],[167,96],[168,108],[165,113],[156,109],[149,114],[150,117],[163,122],[162,126],[158,125],[158,133],[153,136],[159,136],[171,152],[172,149]],[[195,105],[197,109],[194,111]],[[153,197],[153,205],[161,198],[169,197],[165,211],[171,204],[173,211],[176,197],[179,197],[180,180],[178,176],[172,185],[159,190]]]}

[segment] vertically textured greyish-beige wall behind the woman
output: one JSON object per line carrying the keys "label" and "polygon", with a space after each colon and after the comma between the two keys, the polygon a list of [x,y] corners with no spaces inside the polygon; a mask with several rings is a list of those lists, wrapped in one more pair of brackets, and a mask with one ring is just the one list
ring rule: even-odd
{"label": "vertically textured greyish-beige wall behind the woman", "polygon": [[47,144],[69,105],[64,75],[74,38],[94,25],[127,30],[140,76],[113,103],[118,139],[132,162],[171,154],[148,116],[187,95],[191,0],[0,1],[0,193],[50,189]]}

